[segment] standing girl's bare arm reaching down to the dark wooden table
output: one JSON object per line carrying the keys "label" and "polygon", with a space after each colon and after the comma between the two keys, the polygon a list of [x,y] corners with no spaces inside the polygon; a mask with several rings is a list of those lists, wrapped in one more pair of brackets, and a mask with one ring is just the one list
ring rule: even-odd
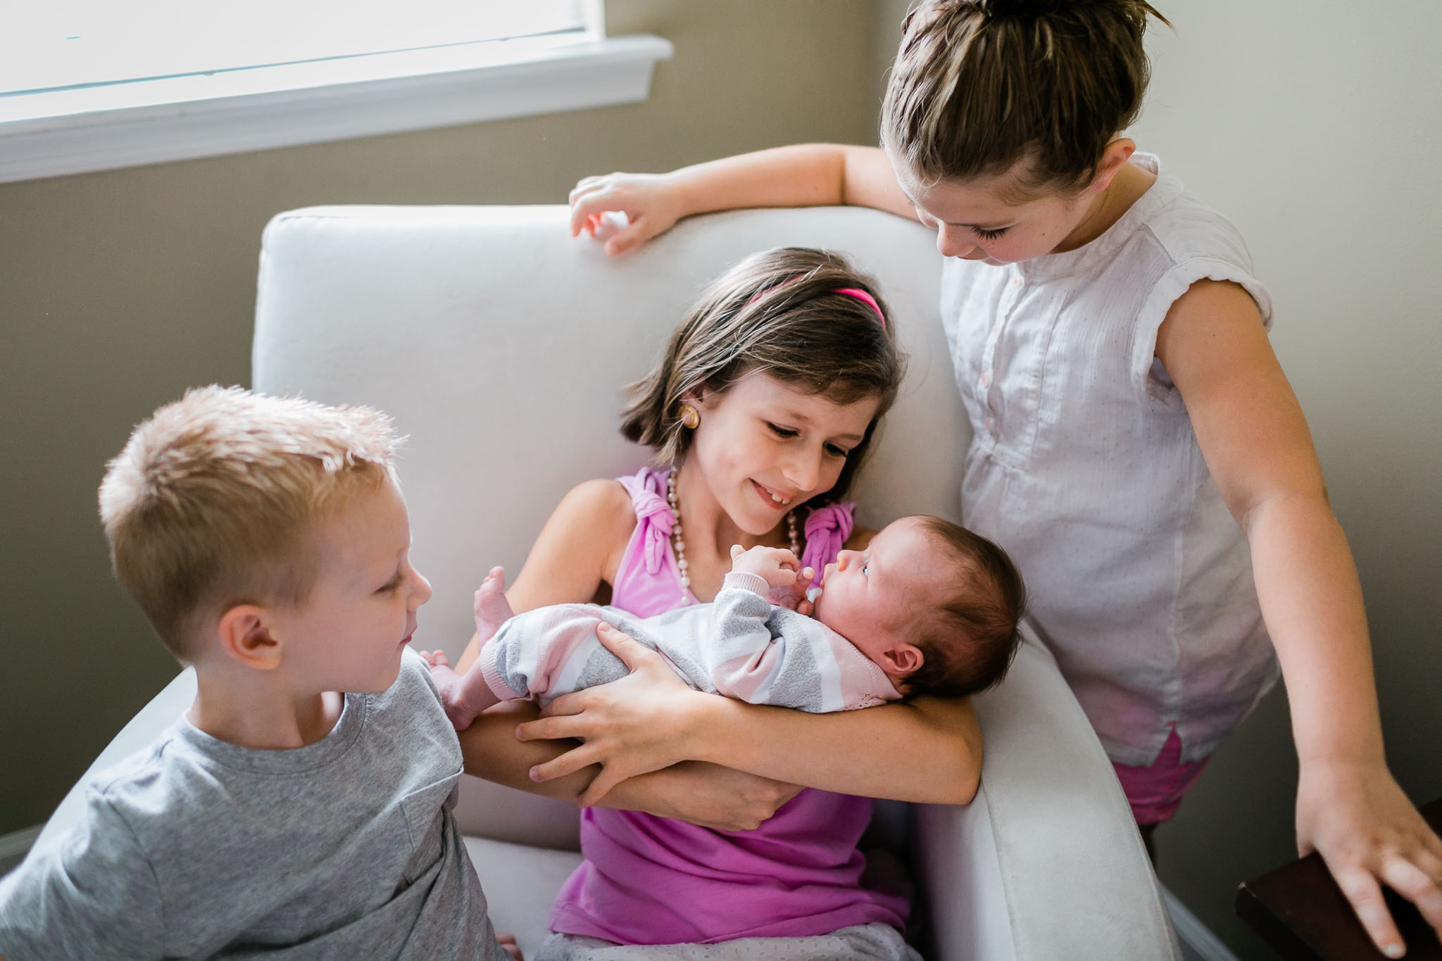
{"label": "standing girl's bare arm reaching down to the dark wooden table", "polygon": [[1379,882],[1442,934],[1442,841],[1387,769],[1361,585],[1301,405],[1236,284],[1194,284],[1156,356],[1252,547],[1301,762],[1298,849],[1322,854],[1377,947],[1400,957]]}

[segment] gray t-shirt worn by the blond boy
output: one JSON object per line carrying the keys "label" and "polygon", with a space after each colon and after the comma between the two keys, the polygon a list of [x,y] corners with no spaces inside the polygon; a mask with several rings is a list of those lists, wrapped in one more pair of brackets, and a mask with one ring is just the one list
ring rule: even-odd
{"label": "gray t-shirt worn by the blond boy", "polygon": [[0,882],[0,955],[506,961],[450,811],[460,774],[412,651],[304,748],[241,748],[182,718]]}

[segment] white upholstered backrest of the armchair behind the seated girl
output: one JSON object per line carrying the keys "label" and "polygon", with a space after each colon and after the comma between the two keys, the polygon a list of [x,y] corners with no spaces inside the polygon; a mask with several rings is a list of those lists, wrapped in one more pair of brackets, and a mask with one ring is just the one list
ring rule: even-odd
{"label": "white upholstered backrest of the armchair behind the seated girl", "polygon": [[920,225],[875,210],[699,218],[614,259],[572,239],[561,206],[293,210],[261,249],[254,386],[379,406],[410,435],[401,481],[435,588],[417,644],[454,656],[485,572],[518,572],[572,486],[646,461],[617,431],[622,388],[707,281],[779,245],[848,254],[911,356],[854,488],[861,523],[955,519],[968,428],[937,320],[940,256]]}

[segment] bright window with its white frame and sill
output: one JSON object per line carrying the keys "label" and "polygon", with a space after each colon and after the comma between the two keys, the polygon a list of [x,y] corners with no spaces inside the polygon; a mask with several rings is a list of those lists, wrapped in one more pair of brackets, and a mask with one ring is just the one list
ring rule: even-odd
{"label": "bright window with its white frame and sill", "polygon": [[0,27],[0,182],[645,99],[600,0],[45,0]]}

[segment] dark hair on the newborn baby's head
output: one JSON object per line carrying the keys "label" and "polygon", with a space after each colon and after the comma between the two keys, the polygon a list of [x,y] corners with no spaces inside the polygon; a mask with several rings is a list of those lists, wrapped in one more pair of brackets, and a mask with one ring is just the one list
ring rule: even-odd
{"label": "dark hair on the newborn baby's head", "polygon": [[911,643],[924,660],[903,686],[908,696],[976,694],[999,681],[1017,656],[1027,585],[1007,552],[986,537],[940,517],[917,522],[952,556],[956,576],[949,596],[917,618]]}

